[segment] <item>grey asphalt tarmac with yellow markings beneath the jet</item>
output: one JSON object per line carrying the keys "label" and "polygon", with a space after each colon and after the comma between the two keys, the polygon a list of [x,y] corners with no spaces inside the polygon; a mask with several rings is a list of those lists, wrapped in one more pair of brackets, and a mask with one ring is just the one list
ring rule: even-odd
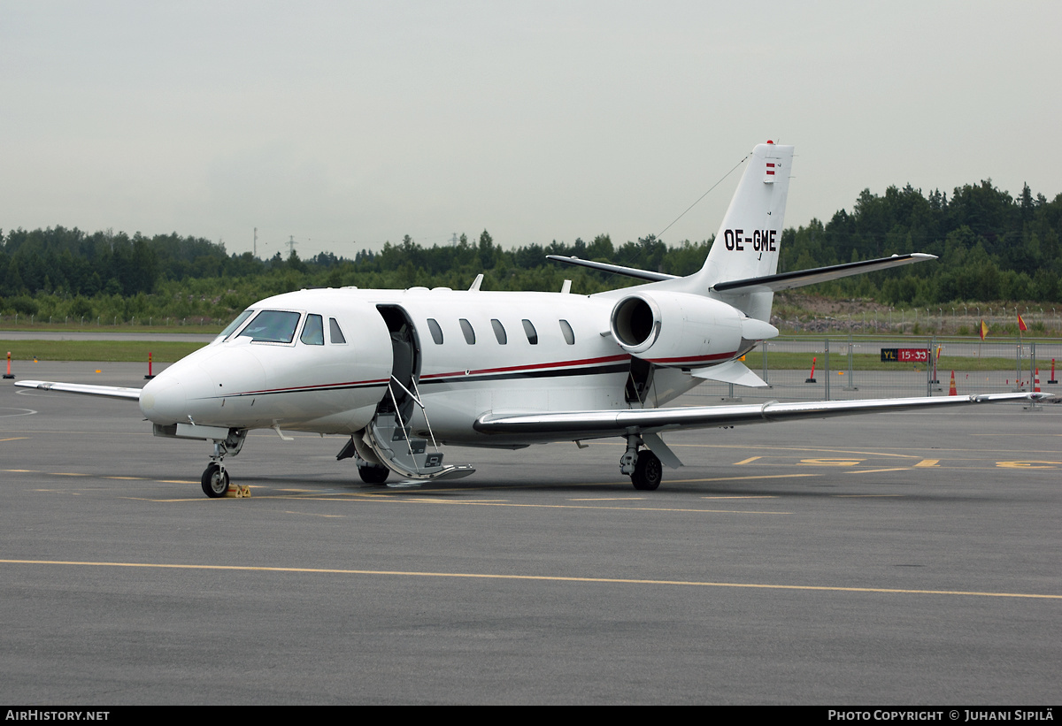
{"label": "grey asphalt tarmac with yellow markings beneath the jet", "polygon": [[1056,703],[1060,425],[986,405],[674,434],[686,466],[654,492],[619,442],[448,448],[474,477],[371,487],[340,438],[256,432],[226,460],[253,496],[209,500],[205,444],[5,381],[0,698]]}

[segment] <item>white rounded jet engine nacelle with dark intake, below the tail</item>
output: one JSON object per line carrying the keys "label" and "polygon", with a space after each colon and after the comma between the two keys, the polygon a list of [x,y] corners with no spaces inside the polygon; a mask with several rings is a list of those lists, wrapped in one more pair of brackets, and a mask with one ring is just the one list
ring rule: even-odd
{"label": "white rounded jet engine nacelle with dark intake, below the tail", "polygon": [[688,293],[638,292],[612,310],[619,346],[657,365],[699,367],[744,355],[777,328],[720,300]]}

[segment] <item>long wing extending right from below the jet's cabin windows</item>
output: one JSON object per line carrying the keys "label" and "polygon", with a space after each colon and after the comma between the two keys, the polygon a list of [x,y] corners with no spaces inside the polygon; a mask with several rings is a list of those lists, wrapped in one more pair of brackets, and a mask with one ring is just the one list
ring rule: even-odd
{"label": "long wing extending right from below the jet's cabin windows", "polygon": [[487,434],[538,434],[543,440],[603,438],[628,433],[660,433],[676,429],[709,429],[746,424],[771,424],[800,418],[827,418],[881,411],[913,411],[944,407],[1044,400],[1050,394],[1015,393],[936,398],[879,398],[853,401],[698,405],[684,409],[624,409],[568,413],[484,414],[474,425]]}

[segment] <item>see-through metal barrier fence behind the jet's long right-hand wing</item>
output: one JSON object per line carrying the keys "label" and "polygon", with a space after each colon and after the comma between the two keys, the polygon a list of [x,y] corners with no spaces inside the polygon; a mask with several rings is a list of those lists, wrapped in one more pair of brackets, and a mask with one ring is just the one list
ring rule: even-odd
{"label": "see-through metal barrier fence behind the jet's long right-hand wing", "polygon": [[1062,341],[1055,339],[780,336],[746,365],[770,387],[705,381],[687,395],[705,404],[947,396],[953,371],[959,395],[1008,393],[1035,388],[1038,369],[1040,390],[1062,395]]}

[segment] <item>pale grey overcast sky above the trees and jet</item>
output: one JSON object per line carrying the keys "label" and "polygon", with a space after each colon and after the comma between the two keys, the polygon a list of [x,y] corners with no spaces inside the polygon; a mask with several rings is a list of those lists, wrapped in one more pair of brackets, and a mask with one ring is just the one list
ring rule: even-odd
{"label": "pale grey overcast sky above the trees and jet", "polygon": [[1059,2],[0,0],[0,228],[622,243],[767,139],[787,226],[907,183],[1054,198],[1060,70]]}

